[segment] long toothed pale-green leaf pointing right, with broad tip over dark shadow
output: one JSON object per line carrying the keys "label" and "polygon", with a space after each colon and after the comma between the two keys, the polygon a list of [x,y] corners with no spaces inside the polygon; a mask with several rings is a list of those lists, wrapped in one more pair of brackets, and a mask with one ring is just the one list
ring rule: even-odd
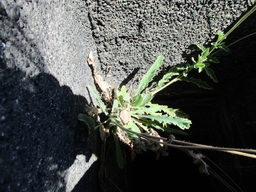
{"label": "long toothed pale-green leaf pointing right, with broad tip over dark shadow", "polygon": [[178,116],[168,116],[168,115],[162,115],[162,116],[153,116],[153,115],[136,115],[138,117],[143,117],[151,120],[156,120],[160,123],[168,123],[178,126],[181,129],[188,129],[190,127],[191,121],[186,118],[180,118]]}

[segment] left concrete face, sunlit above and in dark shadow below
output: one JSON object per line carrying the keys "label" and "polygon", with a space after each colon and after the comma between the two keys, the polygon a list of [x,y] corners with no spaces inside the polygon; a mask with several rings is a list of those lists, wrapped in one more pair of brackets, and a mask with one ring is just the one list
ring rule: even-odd
{"label": "left concrete face, sunlit above and in dark shadow below", "polygon": [[99,139],[77,126],[96,45],[69,2],[1,1],[0,191],[98,189],[98,166],[86,171]]}

